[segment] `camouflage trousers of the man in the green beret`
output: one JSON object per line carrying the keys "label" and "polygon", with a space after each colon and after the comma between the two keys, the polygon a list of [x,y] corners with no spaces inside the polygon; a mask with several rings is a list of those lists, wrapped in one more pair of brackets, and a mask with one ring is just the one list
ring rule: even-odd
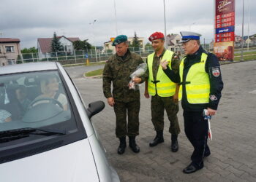
{"label": "camouflage trousers of the man in the green beret", "polygon": [[[116,114],[116,137],[121,138],[139,135],[139,112],[140,100],[129,103],[115,101],[114,111]],[[128,113],[128,124],[127,124]],[[128,127],[127,127],[128,125]]]}

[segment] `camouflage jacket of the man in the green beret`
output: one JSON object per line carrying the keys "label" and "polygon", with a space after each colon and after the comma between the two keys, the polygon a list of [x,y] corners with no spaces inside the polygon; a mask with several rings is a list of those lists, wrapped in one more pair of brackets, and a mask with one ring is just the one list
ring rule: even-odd
{"label": "camouflage jacket of the man in the green beret", "polygon": [[[103,93],[105,98],[113,97],[121,102],[131,102],[140,98],[140,90],[129,90],[128,84],[130,74],[144,63],[140,55],[128,50],[127,57],[122,60],[118,55],[112,55],[103,70]],[[141,77],[142,82],[145,76]],[[113,92],[111,93],[111,82],[113,82]]]}

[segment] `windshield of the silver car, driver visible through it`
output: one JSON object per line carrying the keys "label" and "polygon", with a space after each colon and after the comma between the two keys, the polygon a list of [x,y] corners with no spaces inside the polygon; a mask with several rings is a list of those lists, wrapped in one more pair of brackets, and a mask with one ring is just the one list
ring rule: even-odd
{"label": "windshield of the silver car, driver visible through it", "polygon": [[58,71],[0,76],[0,132],[77,129]]}

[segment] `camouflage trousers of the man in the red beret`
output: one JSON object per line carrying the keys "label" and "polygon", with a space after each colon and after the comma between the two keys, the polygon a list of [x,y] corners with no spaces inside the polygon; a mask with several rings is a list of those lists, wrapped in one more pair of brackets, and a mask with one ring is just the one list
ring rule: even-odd
{"label": "camouflage trousers of the man in the red beret", "polygon": [[166,111],[170,121],[169,132],[178,135],[181,132],[178,125],[178,103],[173,102],[173,96],[160,97],[154,95],[151,97],[151,116],[156,131],[164,130],[164,111]]}

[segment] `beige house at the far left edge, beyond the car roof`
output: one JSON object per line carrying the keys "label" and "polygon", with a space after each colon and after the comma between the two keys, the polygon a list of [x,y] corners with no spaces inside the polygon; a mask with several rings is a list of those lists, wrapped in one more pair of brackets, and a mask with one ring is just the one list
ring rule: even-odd
{"label": "beige house at the far left edge, beyond the car roof", "polygon": [[15,64],[21,55],[20,39],[0,38],[0,66]]}

